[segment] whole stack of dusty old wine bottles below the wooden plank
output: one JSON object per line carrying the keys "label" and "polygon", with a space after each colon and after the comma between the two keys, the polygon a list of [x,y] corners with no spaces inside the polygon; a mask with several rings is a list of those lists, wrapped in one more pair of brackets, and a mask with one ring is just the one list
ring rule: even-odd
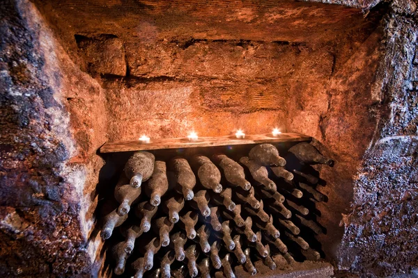
{"label": "whole stack of dusty old wine bottles below the wooden plank", "polygon": [[119,204],[104,216],[101,231],[107,240],[121,226],[124,240],[109,248],[114,274],[127,268],[135,278],[219,271],[235,277],[237,265],[256,275],[255,261],[274,270],[278,262],[320,259],[318,244],[309,240],[324,231],[315,203],[326,197],[303,165],[334,161],[308,142],[287,153],[301,167],[286,167],[270,144],[256,145],[239,162],[197,154],[166,164],[150,152],[132,154],[114,190]]}

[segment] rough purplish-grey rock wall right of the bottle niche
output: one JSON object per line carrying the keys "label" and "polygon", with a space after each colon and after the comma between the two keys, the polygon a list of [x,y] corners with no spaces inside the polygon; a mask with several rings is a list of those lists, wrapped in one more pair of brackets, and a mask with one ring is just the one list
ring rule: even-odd
{"label": "rough purplish-grey rock wall right of the bottle niche", "polygon": [[384,277],[418,266],[417,15],[394,1],[376,98],[376,133],[355,175],[353,211],[343,216],[339,268]]}

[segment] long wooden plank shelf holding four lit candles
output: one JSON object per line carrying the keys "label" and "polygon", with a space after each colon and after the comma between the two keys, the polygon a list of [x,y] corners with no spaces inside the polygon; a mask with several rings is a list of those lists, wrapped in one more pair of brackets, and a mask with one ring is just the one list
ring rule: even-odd
{"label": "long wooden plank shelf holding four lit candles", "polygon": [[305,136],[300,133],[281,133],[277,137],[273,137],[271,134],[245,135],[245,139],[237,139],[235,136],[201,137],[195,142],[189,141],[187,138],[161,138],[151,139],[148,144],[141,143],[139,140],[107,142],[100,148],[100,153],[249,145],[267,142],[302,142],[310,140],[312,140],[310,136]]}

